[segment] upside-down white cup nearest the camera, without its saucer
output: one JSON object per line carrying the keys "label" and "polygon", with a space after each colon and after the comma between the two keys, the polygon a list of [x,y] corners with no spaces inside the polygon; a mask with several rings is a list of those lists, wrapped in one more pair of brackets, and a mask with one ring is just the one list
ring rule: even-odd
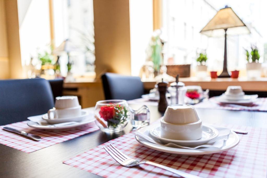
{"label": "upside-down white cup nearest the camera, without its saucer", "polygon": [[172,140],[198,140],[202,137],[202,121],[192,105],[168,106],[160,121],[161,136]]}

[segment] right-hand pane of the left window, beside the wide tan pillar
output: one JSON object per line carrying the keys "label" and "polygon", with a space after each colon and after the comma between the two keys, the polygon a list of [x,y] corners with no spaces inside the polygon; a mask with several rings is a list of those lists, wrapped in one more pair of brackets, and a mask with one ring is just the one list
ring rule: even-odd
{"label": "right-hand pane of the left window, beside the wide tan pillar", "polygon": [[[73,45],[72,72],[83,75],[95,70],[93,0],[54,0],[55,48],[68,39]],[[67,56],[60,58],[61,73],[66,75]]]}

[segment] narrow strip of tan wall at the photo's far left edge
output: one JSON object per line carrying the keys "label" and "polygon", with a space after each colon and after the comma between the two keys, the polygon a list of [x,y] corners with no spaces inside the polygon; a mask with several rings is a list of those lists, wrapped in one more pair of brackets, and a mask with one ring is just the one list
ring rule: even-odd
{"label": "narrow strip of tan wall at the photo's far left edge", "polygon": [[0,1],[0,79],[9,78],[5,3]]}

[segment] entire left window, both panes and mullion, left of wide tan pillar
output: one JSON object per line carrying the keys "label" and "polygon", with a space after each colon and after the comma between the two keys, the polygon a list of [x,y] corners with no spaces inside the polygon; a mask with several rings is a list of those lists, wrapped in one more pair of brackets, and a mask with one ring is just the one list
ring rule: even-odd
{"label": "entire left window, both panes and mullion, left of wide tan pillar", "polygon": [[[34,77],[30,64],[40,75],[39,53],[41,56],[45,52],[50,54],[53,44],[57,48],[66,39],[74,46],[69,53],[72,73],[95,75],[93,0],[18,0],[18,18],[21,63],[23,67],[28,67],[25,68],[29,70],[28,77]],[[56,62],[53,56],[46,57],[51,59],[52,65]],[[60,54],[62,76],[67,74],[67,59],[66,53]],[[53,77],[53,70],[48,77]]]}

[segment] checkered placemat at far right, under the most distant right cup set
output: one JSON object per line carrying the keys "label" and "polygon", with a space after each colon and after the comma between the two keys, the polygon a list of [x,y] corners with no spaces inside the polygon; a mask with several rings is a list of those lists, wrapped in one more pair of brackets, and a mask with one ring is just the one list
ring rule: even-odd
{"label": "checkered placemat at far right, under the most distant right cup set", "polygon": [[[230,107],[227,105],[219,105],[215,97],[210,98],[208,101],[203,101],[194,105],[195,108],[202,109],[226,109],[226,110],[250,110],[250,111],[267,111],[267,98],[257,98],[254,105],[249,109]],[[242,107],[242,106],[241,106]]]}

